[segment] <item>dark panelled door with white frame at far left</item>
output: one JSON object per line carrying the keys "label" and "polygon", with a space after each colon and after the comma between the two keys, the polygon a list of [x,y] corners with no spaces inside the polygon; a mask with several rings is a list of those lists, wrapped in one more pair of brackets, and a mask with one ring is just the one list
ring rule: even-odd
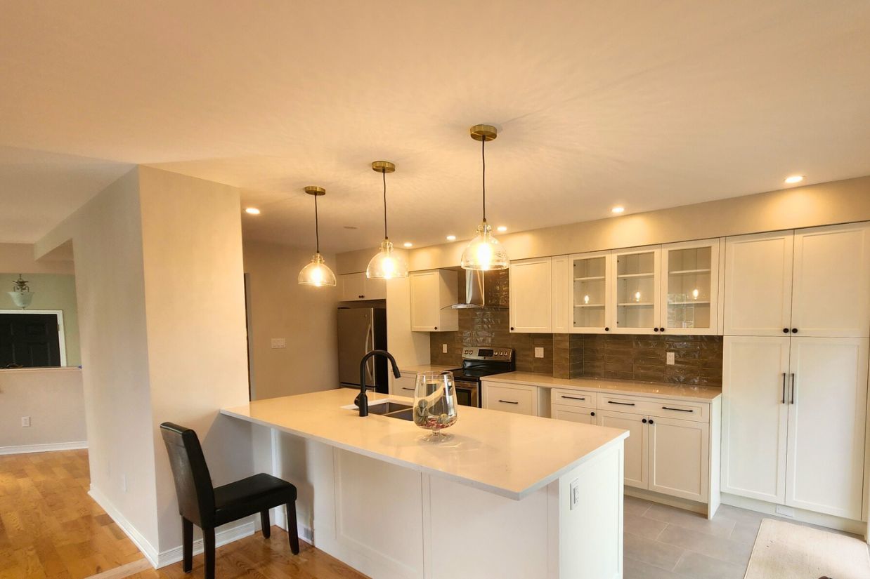
{"label": "dark panelled door with white frame at far left", "polygon": [[55,314],[0,314],[0,368],[60,366]]}

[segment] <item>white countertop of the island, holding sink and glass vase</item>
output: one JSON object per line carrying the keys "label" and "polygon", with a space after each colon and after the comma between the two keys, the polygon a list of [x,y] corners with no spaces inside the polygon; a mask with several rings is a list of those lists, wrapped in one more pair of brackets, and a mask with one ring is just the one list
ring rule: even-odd
{"label": "white countertop of the island, holding sink and glass vase", "polygon": [[[428,431],[416,424],[369,415],[361,418],[351,389],[257,400],[222,409],[221,414],[309,438],[433,476],[468,484],[514,500],[532,494],[599,450],[621,444],[626,430],[524,416],[469,406],[445,433],[445,443],[420,439]],[[370,394],[369,404],[410,398]]]}

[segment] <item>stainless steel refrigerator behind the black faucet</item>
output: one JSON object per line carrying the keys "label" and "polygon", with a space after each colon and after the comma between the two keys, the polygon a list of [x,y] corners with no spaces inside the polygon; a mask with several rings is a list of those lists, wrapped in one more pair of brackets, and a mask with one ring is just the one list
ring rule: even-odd
{"label": "stainless steel refrigerator behind the black faucet", "polygon": [[[386,349],[386,309],[338,308],[338,381],[359,388],[359,361],[372,349]],[[366,388],[388,394],[386,359],[373,356],[366,363]]]}

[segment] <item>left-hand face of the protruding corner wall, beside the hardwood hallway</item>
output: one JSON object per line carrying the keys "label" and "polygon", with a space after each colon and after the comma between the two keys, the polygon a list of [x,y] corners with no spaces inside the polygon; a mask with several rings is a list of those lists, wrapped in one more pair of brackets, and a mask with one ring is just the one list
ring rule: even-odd
{"label": "left-hand face of the protruding corner wall, beside the hardwood hallway", "polygon": [[75,253],[91,495],[156,549],[138,181],[133,169],[111,183],[58,226],[57,241],[71,237]]}

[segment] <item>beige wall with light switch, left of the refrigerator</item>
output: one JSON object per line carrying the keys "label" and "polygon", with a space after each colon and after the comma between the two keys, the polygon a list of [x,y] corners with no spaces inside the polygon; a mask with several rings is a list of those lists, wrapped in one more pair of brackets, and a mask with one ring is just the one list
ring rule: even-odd
{"label": "beige wall with light switch, left of the refrigerator", "polygon": [[[255,399],[338,387],[338,288],[299,285],[299,270],[310,260],[311,250],[244,243]],[[282,337],[287,347],[271,348],[271,338]]]}

